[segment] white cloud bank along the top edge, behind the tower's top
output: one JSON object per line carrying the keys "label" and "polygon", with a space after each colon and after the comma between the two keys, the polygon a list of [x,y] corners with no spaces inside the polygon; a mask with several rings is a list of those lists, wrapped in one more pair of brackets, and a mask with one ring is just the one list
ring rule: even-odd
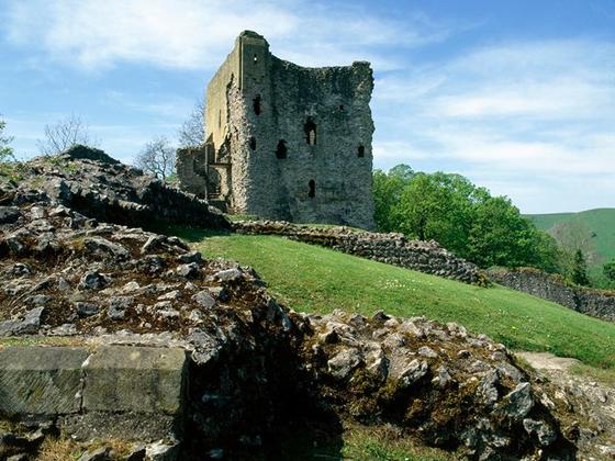
{"label": "white cloud bank along the top edge, behind the tower's top", "polygon": [[12,43],[86,69],[121,61],[217,66],[245,29],[265,34],[275,54],[299,64],[372,59],[390,68],[395,63],[380,58],[378,47],[418,46],[448,34],[420,15],[378,19],[357,8],[334,14],[329,7],[294,0],[16,0],[3,21]]}

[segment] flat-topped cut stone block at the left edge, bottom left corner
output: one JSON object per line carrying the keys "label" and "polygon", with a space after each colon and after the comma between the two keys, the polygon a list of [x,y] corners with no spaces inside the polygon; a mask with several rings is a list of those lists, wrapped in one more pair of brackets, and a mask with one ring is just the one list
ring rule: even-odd
{"label": "flat-topped cut stone block at the left edge, bottom left corner", "polygon": [[66,415],[80,409],[85,348],[0,349],[0,415]]}

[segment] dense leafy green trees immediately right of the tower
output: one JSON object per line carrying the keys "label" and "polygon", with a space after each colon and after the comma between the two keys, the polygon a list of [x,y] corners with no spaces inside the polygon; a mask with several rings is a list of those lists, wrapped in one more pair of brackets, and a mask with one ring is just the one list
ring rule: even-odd
{"label": "dense leafy green trees immediately right of the tower", "polygon": [[492,196],[460,175],[399,165],[373,172],[380,232],[434,239],[480,267],[529,266],[562,272],[556,240],[522,216],[508,198]]}

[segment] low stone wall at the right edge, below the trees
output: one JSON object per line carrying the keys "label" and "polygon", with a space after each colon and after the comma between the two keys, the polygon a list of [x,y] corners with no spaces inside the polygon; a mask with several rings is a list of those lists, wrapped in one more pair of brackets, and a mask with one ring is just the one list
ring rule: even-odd
{"label": "low stone wall at the right edge, below the trees", "polygon": [[513,290],[552,301],[593,317],[615,322],[615,292],[571,285],[561,277],[533,268],[493,268],[488,274],[492,281]]}

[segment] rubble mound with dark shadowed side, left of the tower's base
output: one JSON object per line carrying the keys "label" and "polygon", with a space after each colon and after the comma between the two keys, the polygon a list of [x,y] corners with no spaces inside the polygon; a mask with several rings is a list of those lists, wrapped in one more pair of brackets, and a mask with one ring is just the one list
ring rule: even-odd
{"label": "rubble mound with dark shadowed side, left of the tower's base", "polygon": [[47,196],[109,223],[149,229],[169,224],[230,227],[206,202],[90,147],[75,146],[56,157],[35,158],[21,166],[16,181],[2,179],[0,204],[12,201],[19,190],[16,196]]}

